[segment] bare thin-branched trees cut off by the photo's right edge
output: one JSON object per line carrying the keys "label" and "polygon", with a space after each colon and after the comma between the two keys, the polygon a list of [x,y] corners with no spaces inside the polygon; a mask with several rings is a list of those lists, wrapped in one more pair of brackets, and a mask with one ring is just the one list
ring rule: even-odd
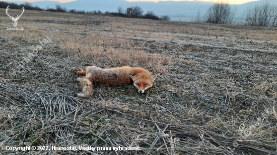
{"label": "bare thin-branched trees cut off by the photo's right edge", "polygon": [[277,6],[268,2],[247,9],[244,14],[245,25],[274,27],[277,26]]}

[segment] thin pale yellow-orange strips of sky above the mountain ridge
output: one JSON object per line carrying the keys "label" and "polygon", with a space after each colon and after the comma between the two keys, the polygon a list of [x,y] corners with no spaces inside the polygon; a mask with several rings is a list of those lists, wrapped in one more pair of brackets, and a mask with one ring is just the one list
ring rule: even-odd
{"label": "thin pale yellow-orange strips of sky above the mountain ridge", "polygon": [[[19,1],[23,1],[23,0],[19,0]],[[43,0],[27,0],[27,2],[36,2],[36,1],[43,1]],[[72,2],[75,0],[49,0],[49,1],[57,1],[60,3],[66,3],[66,2]],[[144,1],[144,2],[159,2],[159,1],[184,1],[184,0],[126,0],[129,2],[137,2],[137,1]],[[185,1],[193,1],[193,0],[185,0]],[[221,0],[200,0],[200,1],[204,1],[204,2],[218,2]],[[229,4],[244,4],[247,2],[252,2],[252,1],[258,1],[258,0],[229,0]]]}

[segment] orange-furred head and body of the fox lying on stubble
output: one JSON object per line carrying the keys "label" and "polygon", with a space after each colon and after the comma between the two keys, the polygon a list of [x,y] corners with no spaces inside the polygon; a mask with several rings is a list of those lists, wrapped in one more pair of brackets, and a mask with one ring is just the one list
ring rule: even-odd
{"label": "orange-furred head and body of the fox lying on stubble", "polygon": [[[86,71],[81,69],[76,73],[86,75],[82,78],[86,82],[89,80],[92,83],[99,82],[109,85],[133,84],[138,88],[139,93],[144,93],[146,89],[152,87],[154,80],[158,76],[158,74],[151,75],[149,71],[143,68],[132,68],[128,66],[108,69],[89,66]],[[82,81],[82,79],[79,79],[79,81]]]}

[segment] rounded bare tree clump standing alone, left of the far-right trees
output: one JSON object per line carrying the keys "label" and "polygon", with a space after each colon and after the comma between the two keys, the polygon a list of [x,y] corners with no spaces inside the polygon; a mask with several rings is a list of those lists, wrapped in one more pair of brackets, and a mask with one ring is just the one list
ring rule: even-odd
{"label": "rounded bare tree clump standing alone, left of the far-right trees", "polygon": [[231,24],[235,18],[235,10],[231,11],[228,2],[217,2],[207,11],[207,23]]}

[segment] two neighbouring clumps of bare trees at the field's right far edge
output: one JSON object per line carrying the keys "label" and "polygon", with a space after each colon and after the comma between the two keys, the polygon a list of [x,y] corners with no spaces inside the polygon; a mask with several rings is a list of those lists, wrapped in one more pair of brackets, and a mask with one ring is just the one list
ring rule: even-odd
{"label": "two neighbouring clumps of bare trees at the field's right far edge", "polygon": [[228,3],[217,3],[209,8],[205,16],[198,11],[190,22],[214,24],[242,24],[248,26],[277,27],[277,5],[268,2],[249,8],[237,17],[236,9],[231,10]]}

